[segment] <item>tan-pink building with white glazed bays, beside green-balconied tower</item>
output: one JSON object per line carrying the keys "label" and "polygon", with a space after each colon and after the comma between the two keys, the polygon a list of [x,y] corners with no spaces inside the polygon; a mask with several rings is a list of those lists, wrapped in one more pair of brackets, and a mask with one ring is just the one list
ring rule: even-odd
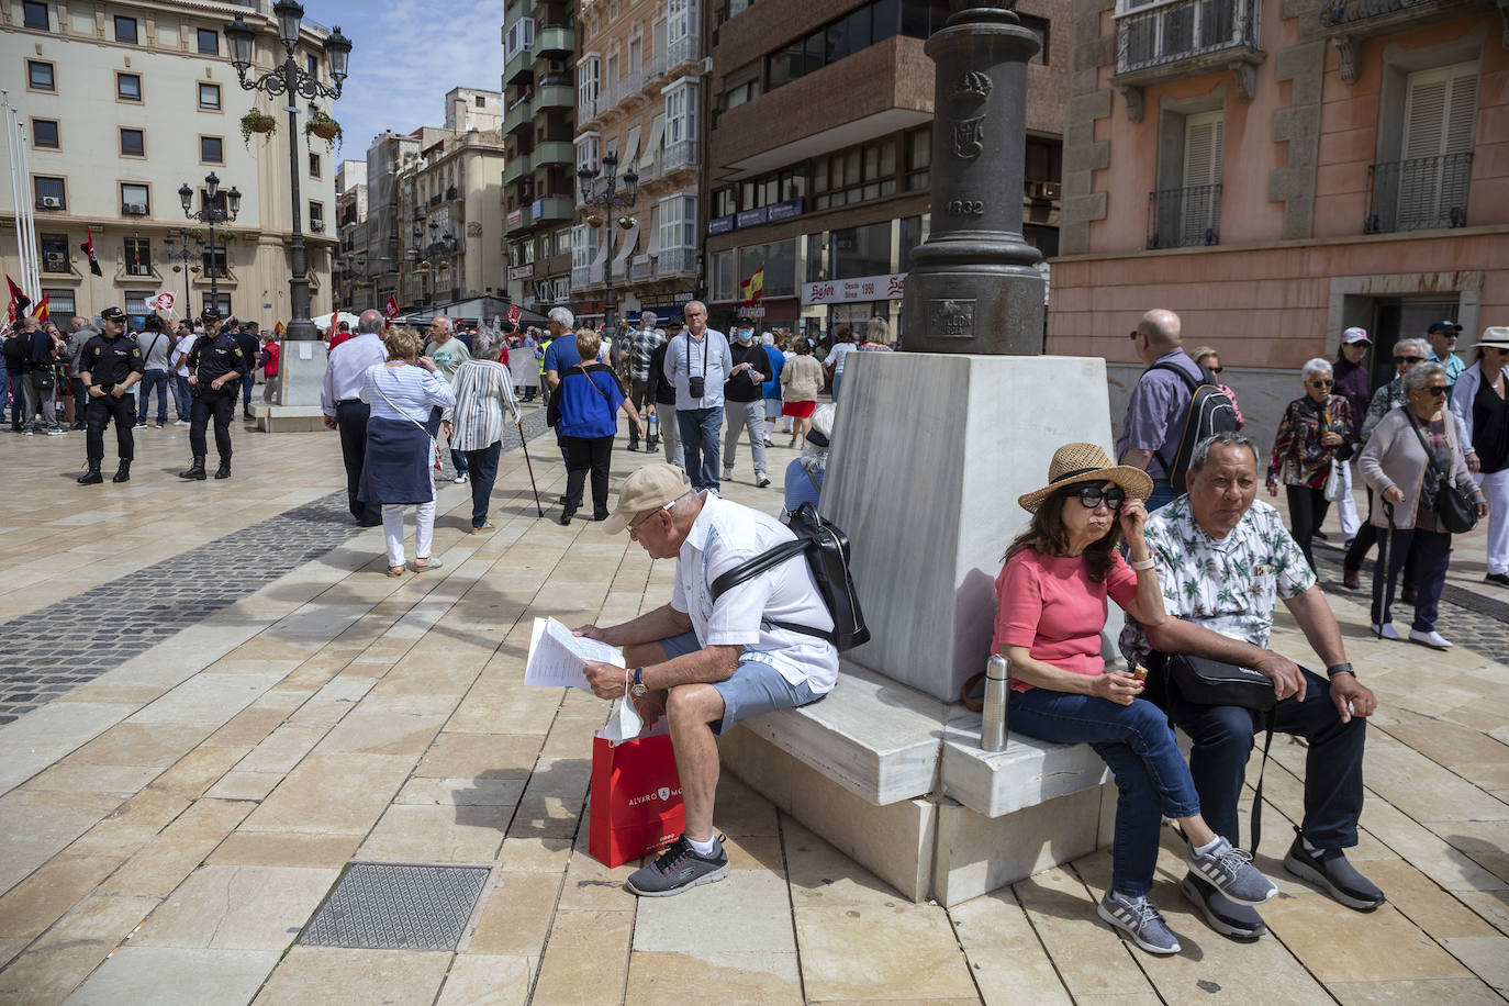
{"label": "tan-pink building with white glazed bays, beside green-balconied tower", "polygon": [[[576,169],[617,161],[638,179],[632,207],[605,213],[576,186],[570,296],[576,312],[679,314],[699,282],[703,119],[699,0],[593,0],[581,8]],[[601,187],[602,182],[598,182]]]}

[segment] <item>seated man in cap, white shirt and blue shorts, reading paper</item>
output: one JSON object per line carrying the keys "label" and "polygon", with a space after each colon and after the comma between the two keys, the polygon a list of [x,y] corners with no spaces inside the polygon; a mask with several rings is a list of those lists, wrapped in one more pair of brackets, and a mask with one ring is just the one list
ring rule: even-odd
{"label": "seated man in cap, white shirt and blue shorts, reading paper", "polygon": [[582,626],[578,635],[623,647],[629,670],[587,664],[599,698],[629,695],[640,715],[670,721],[687,831],[653,863],[629,876],[635,894],[662,897],[729,873],[712,831],[718,787],[717,735],[776,709],[818,701],[837,682],[833,617],[812,569],[800,558],[729,587],[723,573],[794,540],[770,514],[694,492],[673,465],[650,465],[623,480],[604,525],[656,560],[676,560],[668,605],[619,626]]}

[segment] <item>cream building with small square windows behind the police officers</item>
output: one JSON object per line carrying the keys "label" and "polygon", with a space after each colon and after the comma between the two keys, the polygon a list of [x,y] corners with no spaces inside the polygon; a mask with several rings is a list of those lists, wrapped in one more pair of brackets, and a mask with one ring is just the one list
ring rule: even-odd
{"label": "cream building with small square windows behind the police officers", "polygon": [[[35,207],[42,293],[54,315],[98,315],[112,305],[142,315],[143,302],[163,291],[178,296],[178,315],[198,312],[210,302],[213,270],[222,311],[269,327],[288,321],[290,142],[300,143],[311,312],[330,309],[333,151],[288,136],[282,98],[241,89],[222,33],[237,14],[260,32],[249,74],[263,74],[284,57],[267,3],[26,0],[0,8],[11,54],[0,62],[0,87],[24,119],[30,163],[18,189]],[[321,72],[324,36],[305,21],[296,54]],[[240,119],[254,107],[273,115],[278,128],[243,142]],[[311,107],[300,103],[300,113]],[[217,244],[225,238],[216,249],[207,247],[202,225],[186,220],[178,196],[189,184],[198,208],[210,173],[222,192],[241,193],[237,219],[216,228]],[[15,216],[12,192],[0,189],[0,267],[11,275],[20,275]],[[86,240],[103,276],[80,250]],[[169,258],[169,240],[180,255],[187,243],[187,262]]]}

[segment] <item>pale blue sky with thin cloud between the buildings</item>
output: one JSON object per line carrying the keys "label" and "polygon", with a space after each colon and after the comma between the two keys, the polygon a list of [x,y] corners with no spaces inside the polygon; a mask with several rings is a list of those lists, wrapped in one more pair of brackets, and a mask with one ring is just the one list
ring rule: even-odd
{"label": "pale blue sky with thin cloud between the buildings", "polygon": [[501,0],[303,0],[305,17],[352,39],[350,77],[332,115],[341,160],[362,160],[383,130],[445,125],[451,87],[498,90]]}

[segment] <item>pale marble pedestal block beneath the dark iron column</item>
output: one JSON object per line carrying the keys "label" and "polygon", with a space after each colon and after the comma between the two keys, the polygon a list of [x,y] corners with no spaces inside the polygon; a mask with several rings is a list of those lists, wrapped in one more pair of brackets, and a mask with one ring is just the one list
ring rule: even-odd
{"label": "pale marble pedestal block beneath the dark iron column", "polygon": [[871,629],[845,658],[957,700],[985,667],[994,579],[1028,522],[1017,496],[1064,443],[1112,448],[1108,401],[1099,357],[853,353],[821,502]]}

